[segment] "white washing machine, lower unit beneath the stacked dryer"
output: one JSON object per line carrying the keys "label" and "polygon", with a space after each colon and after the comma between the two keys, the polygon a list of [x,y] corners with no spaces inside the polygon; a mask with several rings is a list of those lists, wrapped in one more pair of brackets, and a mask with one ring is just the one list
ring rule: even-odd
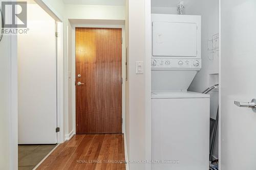
{"label": "white washing machine, lower unit beneath the stacked dryer", "polygon": [[209,169],[208,94],[152,91],[153,170]]}

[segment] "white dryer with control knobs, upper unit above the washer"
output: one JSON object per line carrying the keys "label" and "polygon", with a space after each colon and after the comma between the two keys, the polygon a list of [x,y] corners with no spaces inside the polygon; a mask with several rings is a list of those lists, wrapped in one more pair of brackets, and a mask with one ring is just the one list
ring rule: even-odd
{"label": "white dryer with control knobs, upper unit above the washer", "polygon": [[152,90],[187,90],[201,67],[201,16],[152,14]]}

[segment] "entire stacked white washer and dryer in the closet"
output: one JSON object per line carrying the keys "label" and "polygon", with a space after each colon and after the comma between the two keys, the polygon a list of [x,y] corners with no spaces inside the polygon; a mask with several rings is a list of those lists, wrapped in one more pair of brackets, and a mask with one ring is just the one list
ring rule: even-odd
{"label": "entire stacked white washer and dryer in the closet", "polygon": [[152,14],[153,170],[209,169],[208,94],[187,91],[201,69],[201,16]]}

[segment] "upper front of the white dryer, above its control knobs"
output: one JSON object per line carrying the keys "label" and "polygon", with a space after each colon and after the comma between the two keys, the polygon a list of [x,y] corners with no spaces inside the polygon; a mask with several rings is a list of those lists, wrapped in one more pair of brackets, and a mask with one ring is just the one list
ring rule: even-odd
{"label": "upper front of the white dryer, above its control knobs", "polygon": [[201,59],[201,16],[152,14],[152,56]]}

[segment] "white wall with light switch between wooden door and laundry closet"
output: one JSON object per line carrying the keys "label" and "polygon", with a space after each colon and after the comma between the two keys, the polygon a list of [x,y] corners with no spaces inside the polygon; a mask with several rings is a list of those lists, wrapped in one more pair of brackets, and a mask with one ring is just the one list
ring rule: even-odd
{"label": "white wall with light switch between wooden door and laundry closet", "polygon": [[[136,61],[145,57],[144,1],[129,0],[128,81],[126,82],[126,143],[130,160],[145,159],[145,75],[136,75]],[[127,31],[126,29],[126,31]],[[130,163],[130,169],[145,169],[143,163]]]}

